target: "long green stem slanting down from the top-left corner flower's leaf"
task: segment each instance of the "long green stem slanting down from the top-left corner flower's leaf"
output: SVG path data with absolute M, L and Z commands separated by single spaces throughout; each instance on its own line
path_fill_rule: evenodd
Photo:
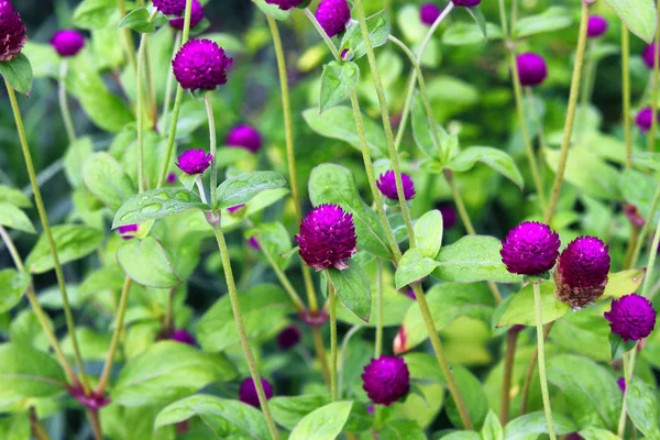
M 72 312 L 72 306 L 69 304 L 68 295 L 66 292 L 66 280 L 64 279 L 64 273 L 62 272 L 62 264 L 59 263 L 57 248 L 55 246 L 55 240 L 53 239 L 53 232 L 51 231 L 51 223 L 48 222 L 48 216 L 46 215 L 46 208 L 42 199 L 41 189 L 38 187 L 38 183 L 36 182 L 36 174 L 34 173 L 32 154 L 30 153 L 30 146 L 28 146 L 25 128 L 23 127 L 23 119 L 21 118 L 21 109 L 19 108 L 19 102 L 16 101 L 16 94 L 14 92 L 13 87 L 11 87 L 7 79 L 4 80 L 4 84 L 7 86 L 7 94 L 9 95 L 9 101 L 11 103 L 11 109 L 13 111 L 14 120 L 16 123 L 19 140 L 21 141 L 21 150 L 23 151 L 23 157 L 25 158 L 25 167 L 28 168 L 28 176 L 30 177 L 30 184 L 32 185 L 32 193 L 34 194 L 34 204 L 36 205 L 36 210 L 38 212 L 38 217 L 44 228 L 44 234 L 46 235 L 46 241 L 48 242 L 51 256 L 53 257 L 53 264 L 55 266 L 55 276 L 57 278 L 57 284 L 59 285 L 59 292 L 62 292 L 64 316 L 66 319 L 66 326 L 69 336 L 72 338 L 74 358 L 76 360 L 76 365 L 78 366 L 78 371 L 80 373 L 82 387 L 87 393 L 87 391 L 89 389 L 89 383 L 87 381 L 87 374 L 85 374 L 82 356 L 80 355 L 80 348 L 78 345 L 78 337 L 76 336 L 76 324 L 74 322 L 74 315 Z

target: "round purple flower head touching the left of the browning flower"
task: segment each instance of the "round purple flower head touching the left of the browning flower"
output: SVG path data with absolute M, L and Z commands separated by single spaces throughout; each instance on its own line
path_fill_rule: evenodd
M 539 275 L 554 266 L 559 256 L 559 235 L 549 226 L 524 221 L 502 242 L 502 262 L 512 274 Z

